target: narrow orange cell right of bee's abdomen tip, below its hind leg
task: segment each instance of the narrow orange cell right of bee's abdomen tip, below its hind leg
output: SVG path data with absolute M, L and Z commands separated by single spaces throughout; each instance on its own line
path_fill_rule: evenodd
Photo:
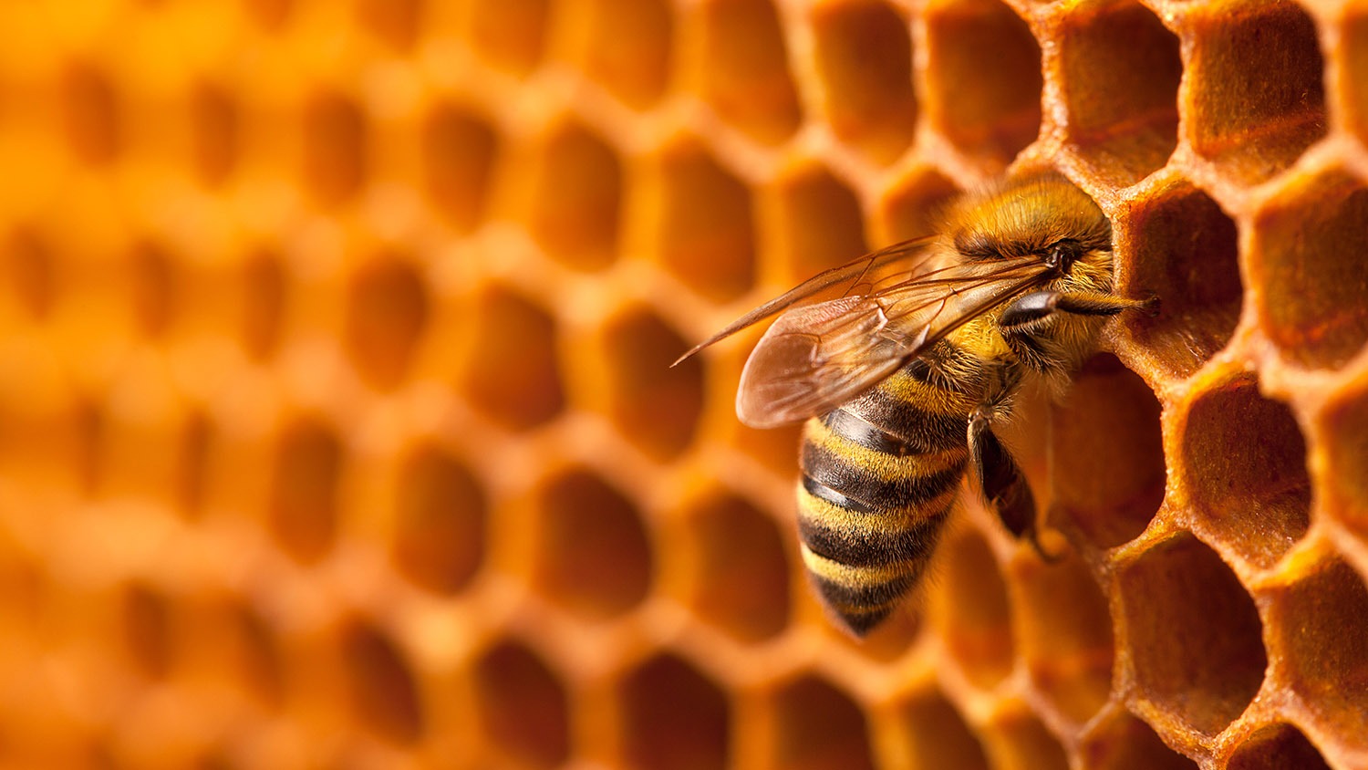
M 973 529 L 937 548 L 936 615 L 945 650 L 974 685 L 989 689 L 1012 670 L 1011 605 L 997 559 Z

